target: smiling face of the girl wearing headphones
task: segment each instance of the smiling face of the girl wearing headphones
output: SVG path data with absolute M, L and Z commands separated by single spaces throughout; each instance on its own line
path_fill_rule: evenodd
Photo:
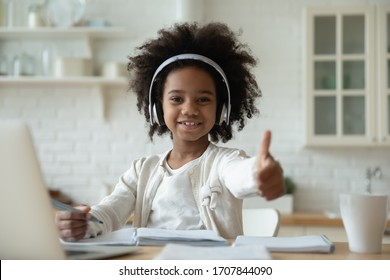
M 216 121 L 217 93 L 213 78 L 189 66 L 168 74 L 163 92 L 164 121 L 177 141 L 208 142 Z

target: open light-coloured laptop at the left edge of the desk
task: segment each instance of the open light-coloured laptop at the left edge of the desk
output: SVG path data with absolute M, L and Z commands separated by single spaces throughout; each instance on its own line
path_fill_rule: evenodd
M 107 259 L 138 250 L 61 243 L 29 127 L 20 121 L 0 121 L 0 224 L 2 260 Z

